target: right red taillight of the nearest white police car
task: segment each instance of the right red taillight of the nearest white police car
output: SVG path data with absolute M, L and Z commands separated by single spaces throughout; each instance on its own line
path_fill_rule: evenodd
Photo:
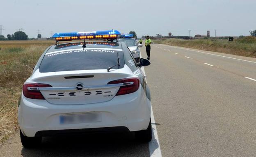
M 139 79 L 138 78 L 127 78 L 127 79 L 120 79 L 108 82 L 107 84 L 120 84 L 122 86 L 119 88 L 119 91 L 116 95 L 124 95 L 136 92 L 139 89 Z

